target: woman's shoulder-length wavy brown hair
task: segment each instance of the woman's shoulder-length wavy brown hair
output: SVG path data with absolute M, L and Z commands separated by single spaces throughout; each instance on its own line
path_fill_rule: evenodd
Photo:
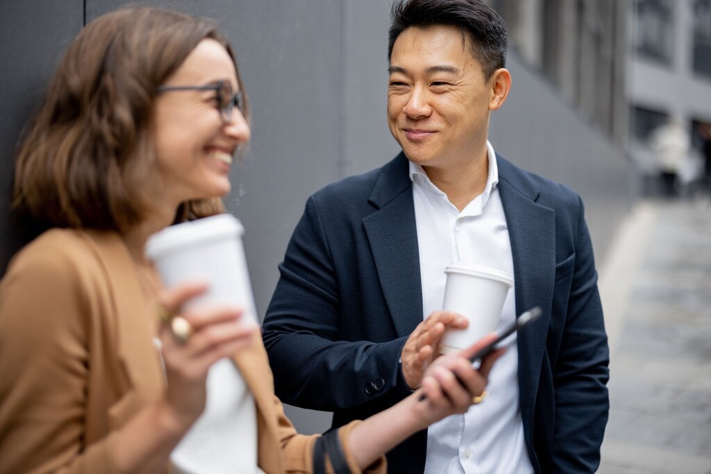
M 212 38 L 215 24 L 146 7 L 96 18 L 79 33 L 18 151 L 14 208 L 36 222 L 125 232 L 151 209 L 149 133 L 158 87 Z M 242 80 L 237 71 L 240 89 Z M 220 198 L 183 203 L 176 222 L 224 211 Z

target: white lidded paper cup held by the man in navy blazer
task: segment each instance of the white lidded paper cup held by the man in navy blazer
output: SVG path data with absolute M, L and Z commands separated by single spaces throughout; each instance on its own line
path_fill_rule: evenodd
M 448 329 L 439 344 L 439 352 L 468 348 L 496 330 L 506 293 L 513 280 L 503 271 L 478 264 L 456 263 L 447 266 L 444 311 L 453 311 L 469 319 L 466 329 Z

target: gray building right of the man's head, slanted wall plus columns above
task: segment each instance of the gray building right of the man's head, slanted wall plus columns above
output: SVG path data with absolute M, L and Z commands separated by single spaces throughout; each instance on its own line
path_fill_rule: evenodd
M 488 0 L 509 31 L 513 85 L 496 150 L 579 193 L 598 257 L 639 195 L 627 151 L 629 16 L 621 0 Z M 602 262 L 601 259 L 601 262 Z

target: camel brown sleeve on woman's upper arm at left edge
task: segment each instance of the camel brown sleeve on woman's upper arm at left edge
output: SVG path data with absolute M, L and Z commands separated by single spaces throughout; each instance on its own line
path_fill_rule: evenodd
M 118 473 L 114 433 L 84 442 L 92 306 L 82 263 L 42 239 L 0 282 L 1 474 Z

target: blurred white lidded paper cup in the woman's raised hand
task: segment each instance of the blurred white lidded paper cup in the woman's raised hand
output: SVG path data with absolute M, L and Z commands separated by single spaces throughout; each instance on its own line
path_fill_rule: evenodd
M 166 286 L 206 281 L 208 290 L 186 303 L 242 308 L 242 321 L 257 323 L 255 299 L 247 271 L 242 234 L 237 218 L 219 214 L 171 225 L 146 242 L 146 255 Z

